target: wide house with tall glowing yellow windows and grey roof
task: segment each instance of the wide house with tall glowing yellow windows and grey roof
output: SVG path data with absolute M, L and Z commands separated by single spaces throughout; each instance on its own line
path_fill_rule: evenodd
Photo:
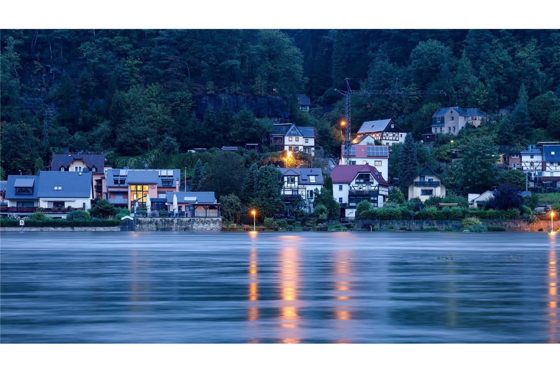
M 164 202 L 167 192 L 178 192 L 181 173 L 178 169 L 111 168 L 103 180 L 104 199 L 110 204 L 130 208 L 146 205 L 150 195 L 152 204 Z M 157 207 L 157 208 L 155 208 Z M 160 210 L 161 206 L 152 206 Z

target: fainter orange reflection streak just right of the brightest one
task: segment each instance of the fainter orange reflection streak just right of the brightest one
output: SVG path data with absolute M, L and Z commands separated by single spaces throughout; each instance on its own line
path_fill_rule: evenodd
M 334 290 L 336 300 L 334 306 L 334 315 L 337 321 L 336 328 L 344 330 L 344 335 L 348 334 L 348 320 L 352 318 L 349 306 L 350 300 L 350 253 L 348 251 L 337 251 L 335 254 L 335 270 L 334 270 Z M 350 343 L 348 338 L 342 338 L 335 341 L 337 343 Z

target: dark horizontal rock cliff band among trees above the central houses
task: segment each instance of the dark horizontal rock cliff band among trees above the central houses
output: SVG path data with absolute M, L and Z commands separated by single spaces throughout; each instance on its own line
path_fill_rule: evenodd
M 209 105 L 219 110 L 223 105 L 229 105 L 231 110 L 239 112 L 243 107 L 252 111 L 256 117 L 268 117 L 272 120 L 282 121 L 290 117 L 288 104 L 279 96 L 231 96 L 231 95 L 204 95 L 194 97 L 197 116 L 202 117 Z

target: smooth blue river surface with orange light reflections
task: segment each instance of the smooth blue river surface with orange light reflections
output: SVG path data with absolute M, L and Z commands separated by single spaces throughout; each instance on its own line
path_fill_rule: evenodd
M 1 342 L 557 343 L 559 239 L 4 232 Z

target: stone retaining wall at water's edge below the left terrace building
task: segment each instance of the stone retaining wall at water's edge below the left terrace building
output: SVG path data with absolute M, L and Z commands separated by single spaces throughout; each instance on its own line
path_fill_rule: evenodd
M 218 232 L 222 218 L 134 218 L 134 230 Z

